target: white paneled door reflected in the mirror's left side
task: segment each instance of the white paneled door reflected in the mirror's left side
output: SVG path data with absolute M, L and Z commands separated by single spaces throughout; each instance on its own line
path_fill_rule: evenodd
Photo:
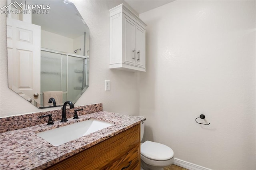
M 40 26 L 7 18 L 9 87 L 37 103 L 40 103 L 40 29 Z

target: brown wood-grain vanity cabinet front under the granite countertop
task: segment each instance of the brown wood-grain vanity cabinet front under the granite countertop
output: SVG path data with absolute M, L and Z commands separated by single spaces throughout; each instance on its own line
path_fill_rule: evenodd
M 121 170 L 122 168 L 125 168 L 124 170 L 140 170 L 140 124 L 47 169 Z

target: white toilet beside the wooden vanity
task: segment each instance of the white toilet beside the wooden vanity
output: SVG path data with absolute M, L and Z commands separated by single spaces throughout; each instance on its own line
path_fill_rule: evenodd
M 140 142 L 144 135 L 145 121 L 140 123 Z M 140 144 L 141 169 L 163 170 L 170 166 L 174 160 L 171 148 L 157 142 L 146 141 Z

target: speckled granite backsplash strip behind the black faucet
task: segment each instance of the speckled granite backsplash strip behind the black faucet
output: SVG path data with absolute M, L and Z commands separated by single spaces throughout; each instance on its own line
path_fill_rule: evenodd
M 78 106 L 78 107 L 75 107 L 75 109 L 83 109 L 82 111 L 77 112 L 78 116 L 86 115 L 89 113 L 102 111 L 102 103 Z M 52 114 L 53 121 L 61 120 L 62 109 L 0 118 L 0 133 L 7 132 L 9 130 L 16 130 L 20 128 L 40 125 L 42 123 L 47 123 L 48 117 L 39 119 L 38 116 L 49 115 L 49 114 Z M 74 109 L 66 109 L 66 116 L 67 118 L 73 117 Z

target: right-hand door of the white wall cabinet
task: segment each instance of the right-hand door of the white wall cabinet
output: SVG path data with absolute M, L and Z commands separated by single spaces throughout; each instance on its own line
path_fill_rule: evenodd
M 135 65 L 145 67 L 145 32 L 136 26 L 135 32 L 136 57 Z

